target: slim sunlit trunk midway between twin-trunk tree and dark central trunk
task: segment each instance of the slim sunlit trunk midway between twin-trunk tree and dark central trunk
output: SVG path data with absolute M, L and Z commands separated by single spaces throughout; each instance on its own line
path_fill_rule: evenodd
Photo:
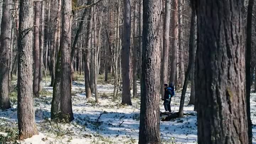
M 94 3 L 96 0 L 94 0 Z M 98 100 L 98 90 L 97 90 L 97 21 L 96 21 L 96 6 L 94 6 L 94 91 L 95 91 L 95 101 L 96 103 L 99 102 Z M 99 36 L 98 36 L 99 37 Z

